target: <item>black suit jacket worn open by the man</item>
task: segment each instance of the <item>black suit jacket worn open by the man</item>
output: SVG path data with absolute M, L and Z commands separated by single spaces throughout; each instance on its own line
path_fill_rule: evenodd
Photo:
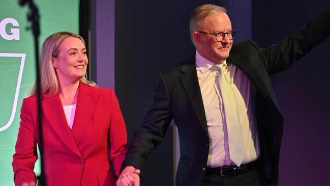
M 330 12 L 301 31 L 267 48 L 253 41 L 235 44 L 227 59 L 241 69 L 257 88 L 260 139 L 258 165 L 263 184 L 277 182 L 283 116 L 269 75 L 287 69 L 330 35 Z M 178 128 L 180 152 L 176 185 L 201 185 L 207 163 L 209 138 L 198 84 L 195 56 L 159 73 L 153 104 L 135 131 L 122 168 L 143 168 L 147 156 L 163 140 L 171 122 Z

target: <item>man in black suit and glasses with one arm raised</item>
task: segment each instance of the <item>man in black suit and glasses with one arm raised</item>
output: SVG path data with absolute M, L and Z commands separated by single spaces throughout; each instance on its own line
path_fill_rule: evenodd
M 330 11 L 277 45 L 233 45 L 226 10 L 197 7 L 196 54 L 159 73 L 151 108 L 136 130 L 118 185 L 130 185 L 174 119 L 181 157 L 176 185 L 276 185 L 283 116 L 269 75 L 330 36 Z

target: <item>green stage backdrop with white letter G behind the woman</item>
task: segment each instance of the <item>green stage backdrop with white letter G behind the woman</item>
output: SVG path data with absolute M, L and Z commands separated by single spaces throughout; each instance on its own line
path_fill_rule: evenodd
M 78 33 L 79 0 L 37 0 L 42 42 L 52 33 Z M 28 7 L 18 1 L 0 3 L 0 180 L 1 185 L 14 185 L 12 155 L 19 127 L 23 98 L 35 82 L 34 38 L 26 19 Z M 39 165 L 39 164 L 38 164 Z M 40 167 L 36 166 L 37 175 Z

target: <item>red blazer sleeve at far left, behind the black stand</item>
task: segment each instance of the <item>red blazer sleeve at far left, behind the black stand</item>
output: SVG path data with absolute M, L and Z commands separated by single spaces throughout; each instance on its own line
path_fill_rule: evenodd
M 34 128 L 35 121 L 26 98 L 23 100 L 20 118 L 21 122 L 12 163 L 14 182 L 15 185 L 19 186 L 26 181 L 37 183 L 36 174 L 33 171 L 38 159 L 37 136 Z

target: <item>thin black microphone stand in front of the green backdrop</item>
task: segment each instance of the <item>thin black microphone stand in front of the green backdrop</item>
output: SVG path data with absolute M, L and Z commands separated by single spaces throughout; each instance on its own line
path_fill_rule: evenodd
M 37 99 L 38 99 L 38 118 L 37 124 L 39 126 L 39 151 L 40 151 L 40 162 L 41 162 L 41 173 L 39 178 L 39 184 L 46 185 L 46 176 L 44 173 L 44 148 L 43 148 L 43 135 L 42 135 L 42 106 L 41 106 L 41 78 L 39 68 L 39 35 L 40 35 L 40 24 L 39 24 L 39 11 L 38 7 L 33 3 L 32 0 L 20 0 L 19 4 L 24 6 L 28 4 L 30 12 L 27 14 L 27 20 L 32 23 L 32 32 L 35 40 L 35 57 L 36 57 L 36 88 L 37 88 Z

